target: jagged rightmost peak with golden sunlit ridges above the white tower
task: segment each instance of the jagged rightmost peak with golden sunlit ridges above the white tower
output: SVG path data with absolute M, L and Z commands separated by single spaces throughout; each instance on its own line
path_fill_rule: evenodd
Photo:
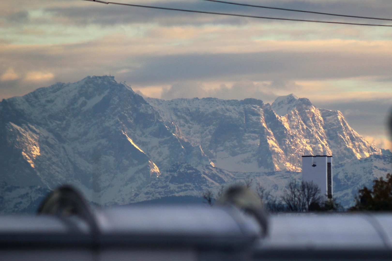
M 271 107 L 274 111 L 287 112 L 281 115 L 281 120 L 287 122 L 291 134 L 285 147 L 288 155 L 332 155 L 335 164 L 381 155 L 380 149 L 348 126 L 339 111 L 316 108 L 309 99 L 297 99 L 293 94 L 278 97 Z M 292 144 L 301 146 L 293 150 Z

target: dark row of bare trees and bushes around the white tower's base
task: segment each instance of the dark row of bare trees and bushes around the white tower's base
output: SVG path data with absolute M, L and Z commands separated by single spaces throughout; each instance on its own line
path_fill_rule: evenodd
M 328 199 L 321 195 L 320 188 L 313 182 L 298 182 L 291 180 L 286 185 L 283 194 L 276 196 L 267 191 L 260 184 L 254 186 L 253 180 L 245 180 L 247 188 L 253 187 L 264 203 L 265 209 L 270 212 L 308 212 L 308 211 L 343 211 L 343 207 L 335 200 Z M 225 191 L 225 186 L 221 185 L 218 193 L 211 190 L 205 191 L 202 196 L 206 203 L 213 205 Z M 355 198 L 355 205 L 348 211 L 392 211 L 392 175 L 387 174 L 373 180 L 372 189 L 366 186 L 359 189 Z

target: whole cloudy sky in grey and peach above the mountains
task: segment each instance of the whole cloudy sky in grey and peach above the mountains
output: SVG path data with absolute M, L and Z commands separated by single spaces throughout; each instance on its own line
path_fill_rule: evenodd
M 233 0 L 234 1 L 234 0 Z M 119 0 L 212 12 L 384 23 L 203 0 Z M 390 0 L 236 0 L 327 13 L 392 18 Z M 392 24 L 392 21 L 389 22 Z M 113 75 L 149 97 L 307 97 L 341 110 L 390 148 L 392 28 L 288 22 L 105 5 L 81 0 L 3 0 L 0 99 L 58 81 Z

